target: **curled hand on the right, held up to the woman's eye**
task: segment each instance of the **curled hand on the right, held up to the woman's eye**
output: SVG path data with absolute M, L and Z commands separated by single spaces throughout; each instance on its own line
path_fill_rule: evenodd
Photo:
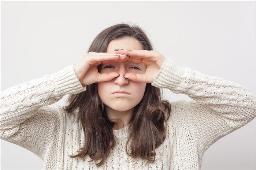
M 142 63 L 146 65 L 146 72 L 144 74 L 126 73 L 125 78 L 134 82 L 153 83 L 159 69 L 163 65 L 166 57 L 156 50 L 122 50 L 115 51 L 116 54 L 127 54 L 130 56 L 129 61 L 134 63 Z

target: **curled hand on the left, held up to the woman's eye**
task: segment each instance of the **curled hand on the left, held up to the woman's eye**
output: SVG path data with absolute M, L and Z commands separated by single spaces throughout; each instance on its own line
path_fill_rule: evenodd
M 126 54 L 89 52 L 74 65 L 74 70 L 82 86 L 87 86 L 92 83 L 110 81 L 119 76 L 117 72 L 99 73 L 97 66 L 101 63 L 123 62 L 128 59 Z

